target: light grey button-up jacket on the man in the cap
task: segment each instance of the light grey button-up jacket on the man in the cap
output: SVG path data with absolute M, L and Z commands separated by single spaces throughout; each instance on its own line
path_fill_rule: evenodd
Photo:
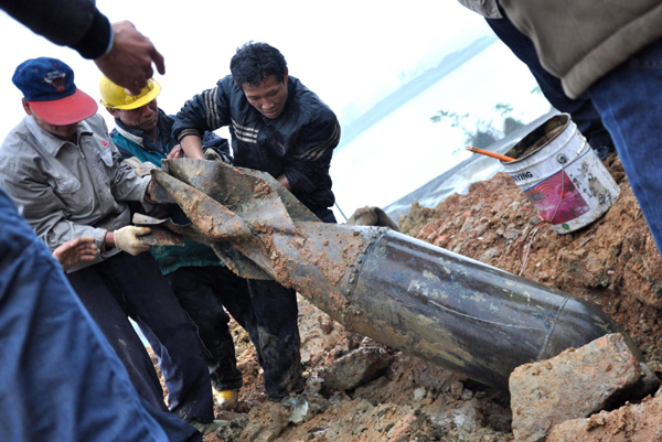
M 145 202 L 149 176 L 120 163 L 99 115 L 78 123 L 77 139 L 63 141 L 26 116 L 0 147 L 0 186 L 51 250 L 81 236 L 93 237 L 100 250 L 107 230 L 130 223 L 125 202 Z

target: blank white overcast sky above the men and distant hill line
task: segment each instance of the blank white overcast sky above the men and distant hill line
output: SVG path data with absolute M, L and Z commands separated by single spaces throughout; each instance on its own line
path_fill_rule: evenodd
M 479 15 L 455 0 L 98 0 L 97 7 L 110 21 L 134 22 L 164 55 L 166 76 L 156 78 L 163 86 L 159 105 L 169 114 L 227 75 L 236 47 L 250 40 L 278 47 L 290 74 L 341 115 L 350 104 L 366 110 L 402 85 L 403 75 L 436 65 L 447 53 L 490 32 Z M 100 74 L 93 63 L 7 17 L 0 29 L 2 136 L 23 114 L 11 76 L 24 60 L 61 58 L 74 68 L 77 86 L 99 98 Z

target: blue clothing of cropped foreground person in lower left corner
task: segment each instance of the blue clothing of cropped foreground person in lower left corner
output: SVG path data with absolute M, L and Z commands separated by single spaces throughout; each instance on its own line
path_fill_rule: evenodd
M 134 389 L 60 265 L 0 190 L 0 439 L 200 441 Z

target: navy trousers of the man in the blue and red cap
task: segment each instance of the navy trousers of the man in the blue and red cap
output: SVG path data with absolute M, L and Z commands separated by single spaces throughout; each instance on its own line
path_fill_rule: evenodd
M 154 406 L 163 402 L 153 365 L 127 316 L 159 357 L 171 411 L 186 421 L 213 420 L 210 375 L 195 330 L 149 254 L 121 252 L 67 277 L 142 397 Z

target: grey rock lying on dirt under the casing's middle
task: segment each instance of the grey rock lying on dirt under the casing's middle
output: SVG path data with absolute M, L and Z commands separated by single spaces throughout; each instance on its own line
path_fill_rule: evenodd
M 388 368 L 389 358 L 380 347 L 361 347 L 323 367 L 318 376 L 324 380 L 323 391 L 351 390 L 380 377 Z

